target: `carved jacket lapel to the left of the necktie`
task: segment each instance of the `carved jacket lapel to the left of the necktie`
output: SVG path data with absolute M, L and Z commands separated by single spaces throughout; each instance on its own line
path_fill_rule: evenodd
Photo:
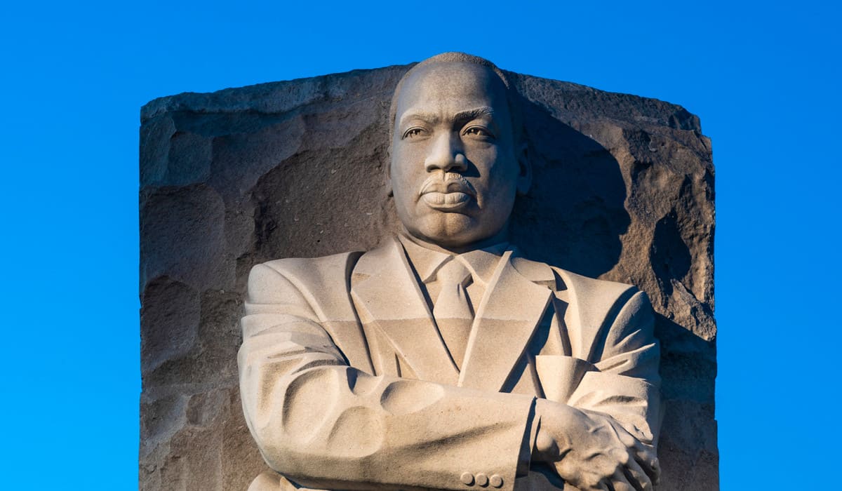
M 360 258 L 351 295 L 421 380 L 455 384 L 459 373 L 397 239 Z

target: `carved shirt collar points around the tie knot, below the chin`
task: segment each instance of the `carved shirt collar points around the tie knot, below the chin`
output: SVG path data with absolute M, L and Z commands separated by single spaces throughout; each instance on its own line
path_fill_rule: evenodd
M 412 237 L 404 234 L 398 234 L 397 238 L 403 244 L 403 249 L 407 252 L 409 261 L 424 283 L 434 281 L 436 272 L 451 259 L 456 259 L 471 271 L 474 281 L 478 280 L 488 284 L 488 280 L 491 280 L 491 276 L 497 268 L 500 256 L 509 248 L 509 243 L 504 242 L 462 254 L 448 254 L 426 248 L 413 240 Z

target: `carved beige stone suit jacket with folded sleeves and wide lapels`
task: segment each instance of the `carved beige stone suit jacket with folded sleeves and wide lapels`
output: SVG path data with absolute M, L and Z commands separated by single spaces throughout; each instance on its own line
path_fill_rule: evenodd
M 525 472 L 535 398 L 609 415 L 647 444 L 657 437 L 658 344 L 633 286 L 507 251 L 461 371 L 397 240 L 258 264 L 245 311 L 242 406 L 280 473 L 253 490 L 562 487 Z

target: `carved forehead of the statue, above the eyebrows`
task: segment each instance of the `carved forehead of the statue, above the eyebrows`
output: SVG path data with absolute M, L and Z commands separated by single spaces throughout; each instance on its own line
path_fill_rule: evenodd
M 452 114 L 491 107 L 504 119 L 506 88 L 491 68 L 473 63 L 434 63 L 411 73 L 397 99 L 396 122 L 408 110 Z

